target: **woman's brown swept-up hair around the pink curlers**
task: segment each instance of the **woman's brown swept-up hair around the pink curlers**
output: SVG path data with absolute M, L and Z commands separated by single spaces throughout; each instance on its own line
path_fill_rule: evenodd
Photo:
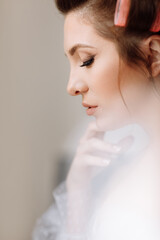
M 55 0 L 64 15 L 81 11 L 100 36 L 116 43 L 120 56 L 127 64 L 143 64 L 149 70 L 150 62 L 140 44 L 141 40 L 151 35 L 160 35 L 160 32 L 150 31 L 160 9 L 159 0 L 130 1 L 126 27 L 117 27 L 114 25 L 117 0 Z

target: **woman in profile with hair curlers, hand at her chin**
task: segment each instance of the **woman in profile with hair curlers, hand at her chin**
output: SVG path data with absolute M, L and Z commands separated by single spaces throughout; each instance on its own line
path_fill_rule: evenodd
M 158 240 L 159 1 L 56 4 L 65 15 L 64 50 L 71 66 L 67 90 L 82 96 L 95 122 L 33 239 Z M 112 143 L 105 141 L 110 130 Z

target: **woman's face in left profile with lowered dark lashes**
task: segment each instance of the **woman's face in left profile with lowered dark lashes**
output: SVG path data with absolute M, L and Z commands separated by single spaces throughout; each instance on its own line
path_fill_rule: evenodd
M 82 95 L 87 114 L 96 118 L 101 130 L 116 129 L 136 119 L 137 104 L 139 108 L 148 91 L 146 78 L 124 64 L 115 43 L 99 36 L 91 24 L 72 12 L 65 18 L 64 50 L 71 67 L 67 91 Z

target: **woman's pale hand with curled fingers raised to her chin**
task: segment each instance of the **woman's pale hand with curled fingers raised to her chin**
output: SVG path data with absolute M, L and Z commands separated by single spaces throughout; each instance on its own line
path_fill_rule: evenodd
M 86 133 L 80 140 L 73 159 L 68 177 L 67 187 L 72 190 L 85 189 L 104 167 L 119 154 L 126 151 L 133 143 L 133 137 L 128 136 L 118 144 L 104 141 L 105 132 L 99 131 L 96 123 L 91 122 Z

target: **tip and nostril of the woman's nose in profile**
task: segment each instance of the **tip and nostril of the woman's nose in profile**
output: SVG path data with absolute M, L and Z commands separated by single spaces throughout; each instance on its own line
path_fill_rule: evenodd
M 80 78 L 77 79 L 77 77 L 70 76 L 68 85 L 67 85 L 67 92 L 71 96 L 84 94 L 87 91 L 88 91 L 88 85 L 85 80 L 82 80 Z

